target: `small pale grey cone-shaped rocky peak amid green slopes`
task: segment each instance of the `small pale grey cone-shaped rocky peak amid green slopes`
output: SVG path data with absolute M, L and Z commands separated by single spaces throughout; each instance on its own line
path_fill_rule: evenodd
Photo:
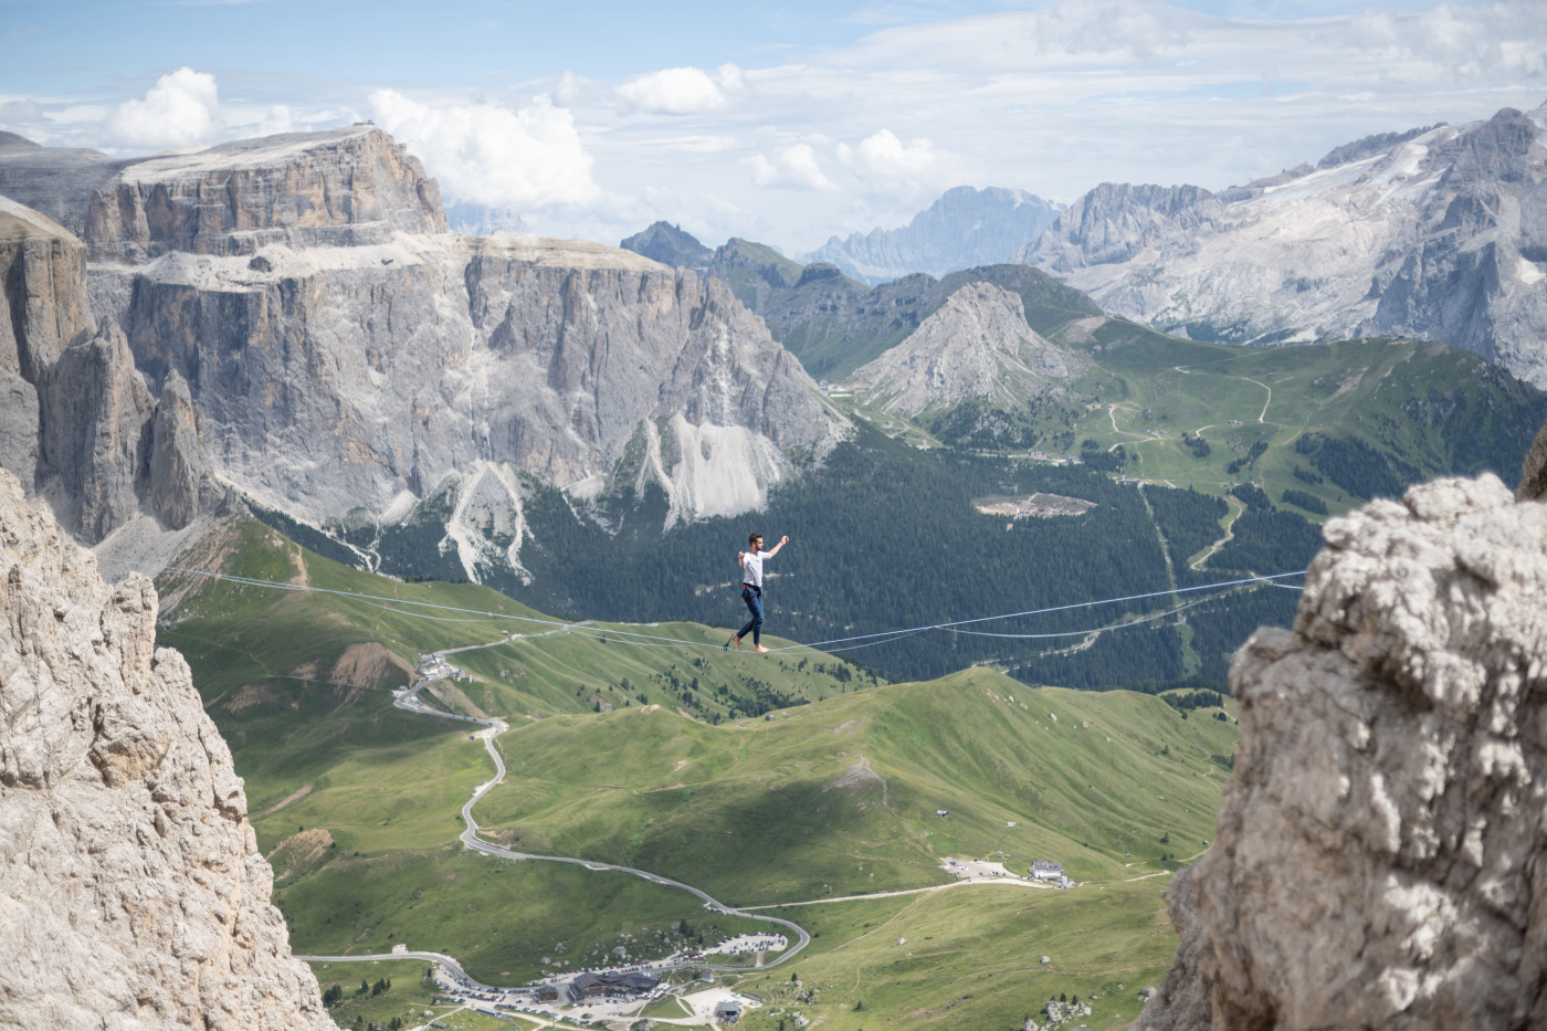
M 953 293 L 907 341 L 849 376 L 855 396 L 913 418 L 965 401 L 1023 407 L 1089 367 L 1026 324 L 1021 299 L 992 283 Z

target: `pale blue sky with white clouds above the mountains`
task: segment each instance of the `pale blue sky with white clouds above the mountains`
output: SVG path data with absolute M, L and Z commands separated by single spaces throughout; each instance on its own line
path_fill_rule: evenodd
M 1547 102 L 1547 0 L 0 0 L 0 130 L 116 156 L 373 121 L 447 201 L 786 254 L 953 186 L 1224 189 Z

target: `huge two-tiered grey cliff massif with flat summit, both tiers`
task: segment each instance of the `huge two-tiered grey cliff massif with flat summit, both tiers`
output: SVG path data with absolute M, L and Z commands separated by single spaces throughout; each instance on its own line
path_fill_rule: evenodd
M 439 520 L 484 579 L 520 571 L 528 480 L 582 503 L 653 485 L 671 525 L 760 506 L 843 432 L 718 282 L 446 232 L 435 181 L 374 127 L 102 161 L 11 141 L 0 192 L 79 226 L 91 313 L 153 392 L 181 384 L 162 404 L 196 433 L 150 443 L 200 440 L 213 478 L 292 517 Z

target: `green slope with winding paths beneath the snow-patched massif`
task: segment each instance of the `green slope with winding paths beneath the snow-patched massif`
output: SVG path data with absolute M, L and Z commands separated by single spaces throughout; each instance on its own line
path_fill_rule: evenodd
M 1363 503 L 1330 478 L 1312 485 L 1295 477 L 1296 466 L 1313 472 L 1312 458 L 1295 450 L 1306 433 L 1358 438 L 1392 460 L 1398 475 L 1403 464 L 1420 478 L 1491 469 L 1513 481 L 1547 415 L 1547 395 L 1443 344 L 1236 347 L 1074 310 L 1029 310 L 1029 319 L 1094 362 L 1074 385 L 1092 398 L 1078 418 L 1069 423 L 1058 410 L 1032 416 L 1043 450 L 1078 454 L 1084 440 L 1103 450 L 1122 444 L 1128 475 L 1210 494 L 1259 483 L 1276 505 L 1286 489 L 1320 497 L 1332 514 Z M 916 430 L 900 420 L 888 429 L 903 432 Z M 1183 432 L 1204 437 L 1211 454 L 1194 457 Z M 1230 471 L 1256 443 L 1267 452 Z

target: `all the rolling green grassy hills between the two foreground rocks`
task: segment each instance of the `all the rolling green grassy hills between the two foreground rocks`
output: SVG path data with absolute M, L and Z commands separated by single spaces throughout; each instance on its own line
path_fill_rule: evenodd
M 187 563 L 531 615 L 472 585 L 396 584 L 347 570 L 257 523 L 232 526 L 215 551 Z M 401 670 L 385 666 L 368 675 L 347 669 L 340 656 L 350 646 L 376 644 L 412 661 L 419 650 L 497 641 L 509 624 L 430 622 L 374 601 L 176 574 L 161 588 L 169 596 L 186 591 L 164 619 L 172 625 L 164 625 L 162 642 L 186 650 L 232 743 L 297 949 L 371 952 L 407 941 L 458 955 L 475 975 L 520 981 L 552 969 L 545 958 L 596 961 L 616 946 L 633 955 L 667 952 L 682 944 L 671 932 L 682 920 L 710 937 L 746 929 L 732 918 L 705 924 L 695 899 L 634 878 L 503 862 L 452 844 L 461 831 L 456 808 L 489 776 L 487 757 L 466 728 L 391 709 L 388 689 L 405 680 Z M 705 639 L 716 633 L 631 630 Z M 693 664 L 704 656 L 702 666 Z M 1208 712 L 1182 720 L 1156 698 L 1027 689 L 990 670 L 857 690 L 862 676 L 828 656 L 704 656 L 574 633 L 453 656 L 475 673 L 459 686 L 467 704 L 509 717 L 514 726 L 500 742 L 511 780 L 483 803 L 480 820 L 534 850 L 627 859 L 738 904 L 941 884 L 947 878 L 937 862 L 947 855 L 1006 853 L 1012 865 L 1049 856 L 1081 879 L 1122 879 L 1174 865 L 1162 862 L 1162 853 L 1185 859 L 1213 833 L 1225 774 L 1211 755 L 1233 751 L 1235 728 Z M 758 680 L 792 697 L 825 700 L 778 711 L 772 721 L 712 726 L 676 711 L 681 698 L 667 678 L 678 676 L 692 692 L 693 675 L 698 695 L 713 695 L 704 689 L 712 680 L 727 690 L 750 690 L 746 683 Z M 340 686 L 350 676 L 356 683 Z M 644 712 L 634 700 L 591 712 L 593 694 L 611 689 L 606 697 L 620 697 L 625 676 L 633 690 L 667 707 Z M 885 790 L 865 779 L 835 785 L 862 755 Z M 948 808 L 950 817 L 936 817 L 936 808 Z M 1018 827 L 1006 828 L 1007 820 Z M 1163 969 L 1174 941 L 1156 930 L 1163 882 L 1139 881 L 1142 889 L 1112 910 L 1118 916 L 1105 915 L 1105 899 L 1101 909 L 1074 906 L 1081 898 L 1095 903 L 1095 889 L 1023 898 L 1001 887 L 791 912 L 800 912 L 801 923 L 815 920 L 818 930 L 828 927 L 809 957 L 814 972 L 848 983 L 869 971 L 860 983 L 876 986 L 866 998 L 873 1009 L 885 1006 L 900 1023 L 920 1008 L 942 1009 L 948 1022 L 984 1026 L 979 1020 L 1026 1008 L 1026 978 L 1061 985 L 1047 980 L 1060 971 L 1038 964 L 1009 977 L 1012 968 L 1004 968 L 1002 991 L 979 989 L 978 1002 L 961 1000 L 941 977 L 920 980 L 913 964 L 880 963 L 873 954 L 877 940 L 854 915 L 896 906 L 893 912 L 908 913 L 899 926 L 917 923 L 910 940 L 917 933 L 954 941 L 931 963 L 944 964 L 942 972 L 961 964 L 967 977 L 985 955 L 968 943 L 989 943 L 987 955 L 1015 951 L 1030 933 L 1024 913 L 1072 906 L 1055 923 L 1067 941 L 1100 952 L 1067 971 L 1067 983 L 1088 994 L 1122 980 L 1134 957 L 1146 975 Z M 821 916 L 829 910 L 834 916 Z M 1024 957 L 1015 963 L 1019 969 Z M 357 985 L 350 971 L 337 975 Z M 818 1000 L 817 1009 L 848 1026 L 845 1005 Z

